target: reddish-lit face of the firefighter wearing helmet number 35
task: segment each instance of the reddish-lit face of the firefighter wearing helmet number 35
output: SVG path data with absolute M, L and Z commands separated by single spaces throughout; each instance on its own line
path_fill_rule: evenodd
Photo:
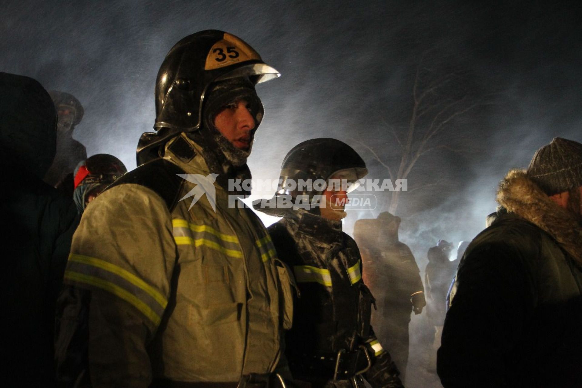
M 222 109 L 214 118 L 214 126 L 236 148 L 250 148 L 255 121 L 246 100 L 239 99 Z

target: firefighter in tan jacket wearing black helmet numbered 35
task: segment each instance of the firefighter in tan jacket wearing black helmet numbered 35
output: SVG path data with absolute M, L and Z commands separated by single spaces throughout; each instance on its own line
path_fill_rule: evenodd
M 278 76 L 223 31 L 189 35 L 166 55 L 157 132 L 142 135 L 140 166 L 91 202 L 73 239 L 59 299 L 64 385 L 281 379 L 289 275 L 260 220 L 229 207 L 227 191 L 229 179 L 249 176 L 263 114 L 255 84 Z

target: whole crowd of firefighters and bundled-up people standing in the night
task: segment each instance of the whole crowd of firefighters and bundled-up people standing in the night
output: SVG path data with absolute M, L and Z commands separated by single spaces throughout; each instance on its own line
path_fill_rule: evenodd
M 582 144 L 555 138 L 510 171 L 487 229 L 439 240 L 423 284 L 400 217 L 360 219 L 352 239 L 349 188 L 289 188 L 367 175 L 342 141 L 283 159 L 272 202 L 317 206 L 255 203 L 281 217 L 267 229 L 232 205 L 250 194 L 229 182 L 250 177 L 255 87 L 278 76 L 235 35 L 183 38 L 127 172 L 73 139 L 75 97 L 0 73 L 3 385 L 403 387 L 426 307 L 444 387 L 582 386 Z

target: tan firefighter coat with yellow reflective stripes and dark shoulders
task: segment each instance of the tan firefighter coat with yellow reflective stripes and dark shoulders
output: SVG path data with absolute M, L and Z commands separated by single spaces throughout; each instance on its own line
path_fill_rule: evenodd
M 194 148 L 189 162 L 174 152 L 184 147 Z M 215 211 L 206 189 L 191 205 L 195 185 L 184 174 L 210 170 L 183 134 L 164 159 L 127 173 L 87 206 L 59 300 L 61 380 L 88 373 L 94 387 L 232 383 L 278 365 L 292 298 L 267 230 L 250 209 L 229 207 L 217 183 Z M 87 316 L 88 329 L 71 328 L 70 316 Z M 88 336 L 88 349 L 75 332 L 81 346 Z M 70 375 L 69 362 L 82 358 L 88 372 L 77 366 Z

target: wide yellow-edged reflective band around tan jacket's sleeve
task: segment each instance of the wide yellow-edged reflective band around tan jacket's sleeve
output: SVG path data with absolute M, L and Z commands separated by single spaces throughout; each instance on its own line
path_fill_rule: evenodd
M 132 304 L 155 326 L 168 305 L 166 297 L 140 277 L 102 259 L 70 254 L 65 279 L 108 291 Z

